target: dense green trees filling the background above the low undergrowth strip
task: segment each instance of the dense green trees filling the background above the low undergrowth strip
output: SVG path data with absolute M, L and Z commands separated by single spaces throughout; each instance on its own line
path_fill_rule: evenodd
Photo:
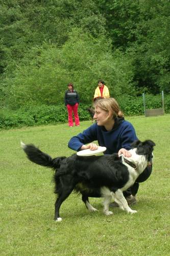
M 72 82 L 92 101 L 170 92 L 169 0 L 0 1 L 0 107 L 63 103 Z

